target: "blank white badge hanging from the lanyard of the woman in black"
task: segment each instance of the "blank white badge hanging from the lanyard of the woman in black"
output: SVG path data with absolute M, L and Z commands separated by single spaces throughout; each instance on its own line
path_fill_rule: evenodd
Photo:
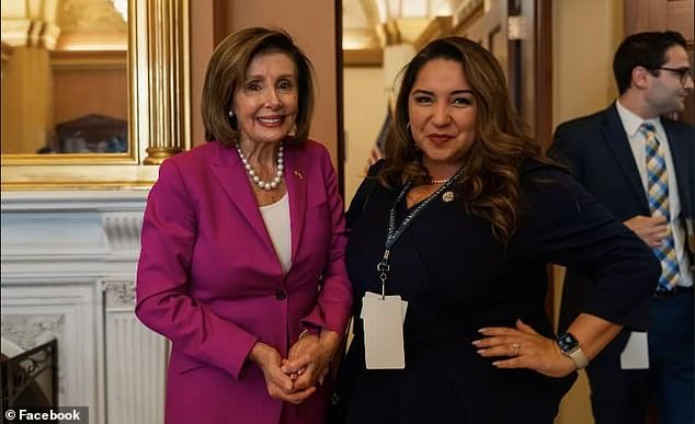
M 408 302 L 400 296 L 367 291 L 362 298 L 364 360 L 367 369 L 403 369 L 403 321 Z

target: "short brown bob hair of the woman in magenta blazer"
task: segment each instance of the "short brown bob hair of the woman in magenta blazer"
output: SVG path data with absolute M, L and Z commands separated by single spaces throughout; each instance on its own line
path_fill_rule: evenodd
M 239 140 L 237 118 L 229 116 L 235 92 L 242 87 L 249 64 L 267 51 L 286 54 L 295 64 L 298 89 L 296 129 L 288 142 L 300 145 L 309 137 L 314 113 L 314 67 L 286 32 L 250 27 L 227 36 L 213 53 L 203 87 L 205 139 L 235 145 Z

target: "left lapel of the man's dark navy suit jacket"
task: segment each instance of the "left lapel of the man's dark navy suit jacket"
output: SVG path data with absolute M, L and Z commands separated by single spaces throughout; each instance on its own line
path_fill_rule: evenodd
M 629 181 L 633 193 L 639 199 L 639 203 L 642 206 L 642 214 L 650 215 L 645 187 L 642 186 L 639 170 L 635 163 L 635 156 L 630 149 L 630 142 L 627 140 L 627 136 L 625 135 L 625 128 L 623 127 L 623 123 L 620 122 L 620 116 L 618 115 L 615 104 L 606 111 L 604 125 L 602 127 L 602 135 L 620 165 L 620 170 L 625 174 L 625 177 Z

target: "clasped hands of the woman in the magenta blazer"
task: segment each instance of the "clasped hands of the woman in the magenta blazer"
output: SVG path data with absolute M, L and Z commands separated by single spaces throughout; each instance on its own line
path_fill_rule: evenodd
M 286 358 L 261 342 L 253 346 L 249 357 L 263 371 L 271 398 L 298 404 L 322 382 L 339 341 L 337 333 L 323 330 L 321 337 L 308 334 L 298 340 Z

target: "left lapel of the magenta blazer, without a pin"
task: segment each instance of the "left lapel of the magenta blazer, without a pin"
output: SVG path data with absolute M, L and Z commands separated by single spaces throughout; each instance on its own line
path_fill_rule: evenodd
M 216 141 L 215 141 L 216 142 Z M 239 209 L 249 226 L 259 234 L 273 253 L 275 248 L 270 239 L 261 210 L 255 202 L 253 188 L 249 184 L 246 170 L 239 154 L 231 149 L 217 145 L 217 154 L 213 160 L 213 174 L 219 181 L 229 200 Z

